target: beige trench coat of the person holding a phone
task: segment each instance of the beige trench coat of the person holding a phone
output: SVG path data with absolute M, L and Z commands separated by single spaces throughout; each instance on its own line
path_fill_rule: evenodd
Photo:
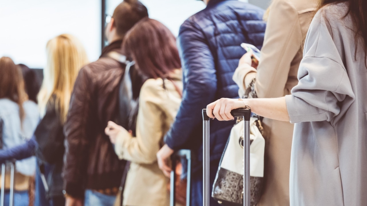
M 239 67 L 233 80 L 239 95 L 256 77 L 259 98 L 276 98 L 290 94 L 297 85 L 297 71 L 317 0 L 274 0 L 270 5 L 261 61 L 257 70 Z M 257 206 L 289 205 L 289 170 L 293 125 L 264 119 L 265 190 Z

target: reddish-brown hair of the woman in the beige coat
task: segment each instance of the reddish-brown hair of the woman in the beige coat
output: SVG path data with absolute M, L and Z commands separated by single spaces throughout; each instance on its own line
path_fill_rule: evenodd
M 123 53 L 131 57 L 140 73 L 148 78 L 170 78 L 174 69 L 181 68 L 176 38 L 157 20 L 145 18 L 126 34 Z

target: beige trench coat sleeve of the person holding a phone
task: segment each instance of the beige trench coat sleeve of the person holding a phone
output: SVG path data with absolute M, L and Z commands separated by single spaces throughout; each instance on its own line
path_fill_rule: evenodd
M 255 89 L 258 98 L 285 95 L 291 62 L 301 48 L 303 38 L 299 14 L 294 6 L 288 1 L 273 1 L 261 49 L 261 61 L 257 67 Z M 240 92 L 241 88 L 250 84 L 247 75 L 253 77 L 254 71 L 252 67 L 236 69 L 233 80 L 239 85 Z

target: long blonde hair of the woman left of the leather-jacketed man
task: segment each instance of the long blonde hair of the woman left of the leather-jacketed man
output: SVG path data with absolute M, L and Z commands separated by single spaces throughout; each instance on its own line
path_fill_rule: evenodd
M 64 124 L 74 82 L 80 68 L 88 63 L 87 54 L 80 41 L 70 34 L 61 34 L 48 41 L 46 53 L 47 66 L 37 97 L 40 113 L 44 115 L 48 101 L 55 95 L 55 110 Z

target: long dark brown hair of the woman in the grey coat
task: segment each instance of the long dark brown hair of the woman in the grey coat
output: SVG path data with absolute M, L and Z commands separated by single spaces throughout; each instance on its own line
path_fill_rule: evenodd
M 356 42 L 356 52 L 358 46 L 358 39 L 363 38 L 364 43 L 364 53 L 365 63 L 367 66 L 367 0 L 319 0 L 319 9 L 328 4 L 348 2 L 349 9 L 344 15 L 344 18 L 349 14 L 352 16 L 354 28 L 355 28 L 355 42 Z M 356 58 L 356 56 L 355 56 Z

